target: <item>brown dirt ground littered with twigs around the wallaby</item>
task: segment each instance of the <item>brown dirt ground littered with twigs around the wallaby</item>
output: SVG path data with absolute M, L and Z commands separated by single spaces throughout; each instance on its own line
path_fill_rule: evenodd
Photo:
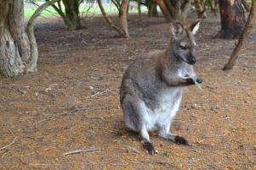
M 214 35 L 219 18 L 202 21 L 196 72 L 202 90 L 185 90 L 171 130 L 191 146 L 151 141 L 148 155 L 124 126 L 122 74 L 134 58 L 167 47 L 162 18 L 129 21 L 130 39 L 117 38 L 101 18 L 67 31 L 60 19 L 39 19 L 38 71 L 0 78 L 0 169 L 256 169 L 256 30 L 230 72 L 222 67 L 234 40 Z M 96 149 L 64 156 L 65 152 Z

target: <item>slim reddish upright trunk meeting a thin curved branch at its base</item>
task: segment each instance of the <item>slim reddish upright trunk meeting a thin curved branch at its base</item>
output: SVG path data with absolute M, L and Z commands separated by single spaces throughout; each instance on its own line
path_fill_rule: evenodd
M 119 23 L 122 27 L 122 30 L 124 30 L 125 36 L 129 37 L 128 33 L 128 4 L 129 0 L 122 0 L 120 9 L 119 9 Z

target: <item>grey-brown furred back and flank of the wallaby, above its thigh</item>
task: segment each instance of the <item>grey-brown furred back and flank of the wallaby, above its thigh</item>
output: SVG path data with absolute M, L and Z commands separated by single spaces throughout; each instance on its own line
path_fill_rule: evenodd
M 161 81 L 161 60 L 165 50 L 156 50 L 139 56 L 123 74 L 120 101 L 127 94 L 153 98 Z M 138 74 L 139 73 L 139 74 Z

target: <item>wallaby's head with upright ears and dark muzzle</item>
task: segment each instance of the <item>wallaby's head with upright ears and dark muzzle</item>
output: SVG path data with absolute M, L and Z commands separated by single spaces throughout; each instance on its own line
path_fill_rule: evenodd
M 200 21 L 184 26 L 179 22 L 171 24 L 171 48 L 174 57 L 185 63 L 196 63 L 195 34 L 199 29 Z

